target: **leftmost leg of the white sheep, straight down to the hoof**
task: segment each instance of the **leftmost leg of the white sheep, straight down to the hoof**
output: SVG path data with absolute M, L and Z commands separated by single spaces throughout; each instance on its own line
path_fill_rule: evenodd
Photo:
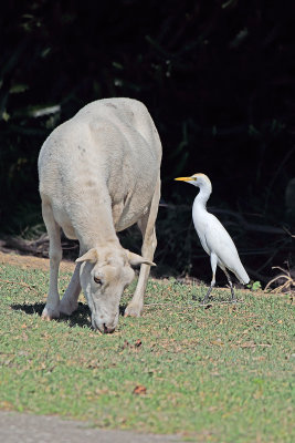
M 42 215 L 50 239 L 50 287 L 42 318 L 52 320 L 60 317 L 59 268 L 62 259 L 61 228 L 54 219 L 50 204 L 42 203 Z

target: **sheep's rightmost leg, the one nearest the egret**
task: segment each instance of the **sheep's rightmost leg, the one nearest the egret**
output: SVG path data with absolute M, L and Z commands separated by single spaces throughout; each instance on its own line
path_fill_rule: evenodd
M 144 240 L 141 255 L 149 261 L 152 261 L 155 249 L 157 247 L 155 223 L 158 214 L 159 199 L 160 199 L 160 179 L 157 183 L 149 212 L 138 222 L 138 226 L 141 230 Z M 150 271 L 149 265 L 140 266 L 140 272 L 136 290 L 131 301 L 129 302 L 129 305 L 125 310 L 125 317 L 140 317 L 140 313 L 143 312 L 144 309 L 144 295 L 147 287 L 149 271 Z

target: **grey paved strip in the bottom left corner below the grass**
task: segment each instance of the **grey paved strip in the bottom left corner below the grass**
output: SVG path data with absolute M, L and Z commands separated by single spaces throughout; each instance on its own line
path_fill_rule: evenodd
M 176 435 L 136 434 L 87 427 L 56 416 L 0 411 L 0 440 L 6 443 L 180 443 Z

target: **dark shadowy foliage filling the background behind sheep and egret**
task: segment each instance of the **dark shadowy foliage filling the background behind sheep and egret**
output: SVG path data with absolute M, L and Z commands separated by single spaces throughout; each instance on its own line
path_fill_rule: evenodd
M 254 278 L 292 265 L 278 228 L 294 224 L 295 3 L 7 0 L 1 10 L 2 233 L 40 222 L 36 158 L 50 132 L 87 102 L 130 96 L 164 145 L 159 272 L 210 276 L 191 226 L 196 189 L 172 182 L 196 172 L 210 176 L 210 206 Z

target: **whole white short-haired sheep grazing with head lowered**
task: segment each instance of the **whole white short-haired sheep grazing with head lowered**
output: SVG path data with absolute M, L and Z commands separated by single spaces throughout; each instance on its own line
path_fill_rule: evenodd
M 56 127 L 39 155 L 42 215 L 50 238 L 50 288 L 43 318 L 71 315 L 81 287 L 92 324 L 113 332 L 119 300 L 133 280 L 130 265 L 141 265 L 126 316 L 144 307 L 154 253 L 160 198 L 161 143 L 145 107 L 136 100 L 105 99 L 89 103 Z M 138 224 L 143 257 L 124 249 L 116 231 Z M 60 301 L 57 276 L 61 233 L 78 239 L 80 258 Z

